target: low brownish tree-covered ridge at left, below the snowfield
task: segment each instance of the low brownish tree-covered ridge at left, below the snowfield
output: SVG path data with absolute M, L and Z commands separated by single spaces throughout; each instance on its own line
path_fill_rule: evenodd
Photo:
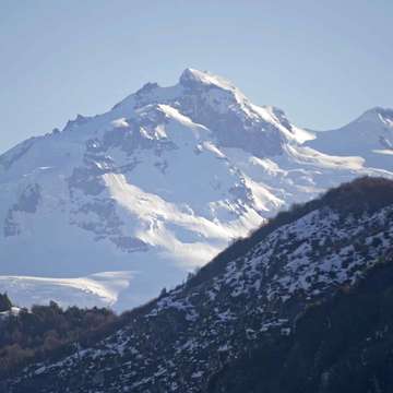
M 0 378 L 28 364 L 56 359 L 87 346 L 118 327 L 120 318 L 108 309 L 63 310 L 56 302 L 11 311 L 7 294 L 0 295 Z

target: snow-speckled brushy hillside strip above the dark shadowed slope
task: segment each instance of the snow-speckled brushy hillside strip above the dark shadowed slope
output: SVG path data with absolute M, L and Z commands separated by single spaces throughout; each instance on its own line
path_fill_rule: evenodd
M 200 392 L 315 302 L 392 258 L 393 182 L 360 179 L 279 214 L 93 347 L 9 380 L 23 392 Z M 296 330 L 295 330 L 296 331 Z

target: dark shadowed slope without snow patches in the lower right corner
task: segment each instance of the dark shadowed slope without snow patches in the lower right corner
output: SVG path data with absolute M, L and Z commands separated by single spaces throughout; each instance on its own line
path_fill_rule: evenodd
M 260 342 L 215 374 L 209 393 L 391 392 L 393 259 L 353 290 L 310 307 L 294 334 Z

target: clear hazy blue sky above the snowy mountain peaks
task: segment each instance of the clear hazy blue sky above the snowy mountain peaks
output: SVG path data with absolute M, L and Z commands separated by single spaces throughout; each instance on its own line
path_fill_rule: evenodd
M 393 106 L 392 0 L 0 0 L 0 152 L 187 67 L 295 123 Z

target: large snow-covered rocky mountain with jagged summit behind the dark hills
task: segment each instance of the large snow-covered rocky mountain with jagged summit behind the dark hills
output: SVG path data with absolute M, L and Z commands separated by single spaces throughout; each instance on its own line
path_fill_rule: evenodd
M 41 300 L 67 305 L 85 287 L 59 278 L 117 272 L 128 289 L 115 285 L 106 302 L 130 308 L 277 210 L 357 176 L 393 176 L 349 136 L 350 157 L 307 144 L 321 135 L 193 69 L 175 86 L 147 83 L 104 115 L 79 115 L 0 157 L 0 290 L 13 285 L 23 303 L 45 277 Z

